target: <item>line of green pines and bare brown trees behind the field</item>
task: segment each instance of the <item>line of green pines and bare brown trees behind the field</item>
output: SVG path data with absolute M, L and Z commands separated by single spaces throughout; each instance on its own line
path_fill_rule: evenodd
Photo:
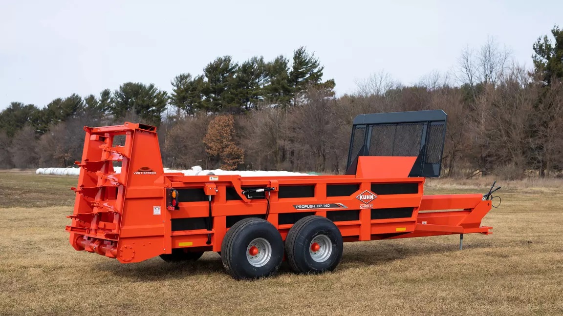
M 124 83 L 42 108 L 12 102 L 0 112 L 0 166 L 70 166 L 81 158 L 84 125 L 128 120 L 159 127 L 169 168 L 343 173 L 356 115 L 443 109 L 443 175 L 553 177 L 563 168 L 563 30 L 554 26 L 531 47 L 533 69 L 490 38 L 464 49 L 448 74 L 404 85 L 382 71 L 339 97 L 300 47 L 291 59 L 216 58 L 202 74 L 173 78 L 171 93 Z

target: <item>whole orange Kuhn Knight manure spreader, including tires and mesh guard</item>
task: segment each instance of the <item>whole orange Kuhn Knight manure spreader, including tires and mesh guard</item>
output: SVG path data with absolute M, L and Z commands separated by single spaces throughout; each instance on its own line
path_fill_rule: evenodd
M 343 242 L 491 233 L 481 219 L 492 188 L 423 195 L 425 178 L 440 175 L 443 111 L 365 114 L 353 124 L 345 175 L 284 177 L 165 173 L 155 127 L 84 127 L 70 243 L 122 263 L 216 251 L 245 279 L 271 276 L 284 259 L 298 273 L 333 270 Z

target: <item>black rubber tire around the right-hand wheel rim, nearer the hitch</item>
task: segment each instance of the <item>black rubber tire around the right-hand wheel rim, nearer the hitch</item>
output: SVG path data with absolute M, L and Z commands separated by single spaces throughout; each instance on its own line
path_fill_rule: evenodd
M 320 263 L 311 258 L 309 245 L 315 236 L 324 234 L 332 242 L 332 254 Z M 322 216 L 307 216 L 293 224 L 285 239 L 287 261 L 294 272 L 322 273 L 336 269 L 342 259 L 342 234 L 332 220 Z

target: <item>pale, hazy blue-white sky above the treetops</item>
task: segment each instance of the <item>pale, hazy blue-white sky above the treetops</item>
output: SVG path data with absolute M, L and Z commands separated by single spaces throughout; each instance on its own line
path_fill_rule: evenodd
M 219 56 L 272 60 L 306 46 L 339 95 L 385 71 L 404 84 L 445 73 L 489 37 L 532 66 L 563 1 L 0 1 L 0 109 L 112 91 L 172 91 Z

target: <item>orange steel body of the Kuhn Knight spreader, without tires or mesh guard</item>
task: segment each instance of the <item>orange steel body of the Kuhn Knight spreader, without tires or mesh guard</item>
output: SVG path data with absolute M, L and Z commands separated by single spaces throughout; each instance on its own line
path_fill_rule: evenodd
M 425 178 L 407 177 L 415 157 L 359 157 L 355 175 L 185 176 L 164 173 L 154 127 L 125 123 L 84 130 L 74 213 L 66 229 L 74 249 L 122 263 L 182 247 L 221 251 L 227 229 L 245 217 L 264 218 L 268 204 L 267 220 L 284 239 L 307 215 L 331 219 L 347 242 L 491 233 L 481 226 L 491 201 L 481 194 L 423 195 Z M 113 145 L 118 135 L 125 136 L 124 146 Z M 122 162 L 119 174 L 116 161 Z M 256 187 L 275 189 L 269 201 L 241 193 Z M 167 208 L 167 188 L 179 193 L 177 209 Z

